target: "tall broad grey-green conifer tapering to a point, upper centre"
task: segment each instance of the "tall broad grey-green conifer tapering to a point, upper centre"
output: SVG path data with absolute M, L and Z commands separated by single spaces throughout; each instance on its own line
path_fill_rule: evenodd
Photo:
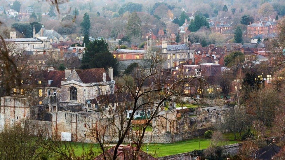
M 142 33 L 142 22 L 138 17 L 137 13 L 134 11 L 128 18 L 126 24 L 126 36 L 131 38 L 141 38 Z

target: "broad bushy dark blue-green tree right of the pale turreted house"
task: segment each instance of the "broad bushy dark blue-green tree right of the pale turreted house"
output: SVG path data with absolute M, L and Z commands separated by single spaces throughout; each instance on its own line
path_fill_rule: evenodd
M 210 28 L 208 21 L 206 20 L 205 16 L 195 15 L 194 20 L 191 20 L 188 29 L 191 32 L 198 31 L 201 27 Z

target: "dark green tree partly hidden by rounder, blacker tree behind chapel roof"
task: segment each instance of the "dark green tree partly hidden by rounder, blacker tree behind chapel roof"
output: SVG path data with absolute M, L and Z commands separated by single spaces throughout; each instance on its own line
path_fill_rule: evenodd
M 85 53 L 82 56 L 81 68 L 90 68 L 90 61 L 100 52 L 109 52 L 108 44 L 103 39 L 96 39 L 89 42 L 86 46 Z

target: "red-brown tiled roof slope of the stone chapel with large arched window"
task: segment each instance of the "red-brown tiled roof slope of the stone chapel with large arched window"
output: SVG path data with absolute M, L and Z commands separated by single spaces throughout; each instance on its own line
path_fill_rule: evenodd
M 83 83 L 95 83 L 103 81 L 103 72 L 106 72 L 104 68 L 89 68 L 89 69 L 76 69 L 76 73 Z M 107 74 L 107 81 L 110 81 L 110 77 Z

